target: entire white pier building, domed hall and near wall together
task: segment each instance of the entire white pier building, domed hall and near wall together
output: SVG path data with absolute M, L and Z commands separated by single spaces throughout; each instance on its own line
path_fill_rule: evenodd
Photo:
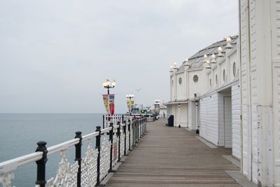
M 280 186 L 279 106 L 279 0 L 239 0 L 239 37 L 170 70 L 174 125 L 199 128 L 207 141 L 232 148 L 241 174 L 258 186 Z

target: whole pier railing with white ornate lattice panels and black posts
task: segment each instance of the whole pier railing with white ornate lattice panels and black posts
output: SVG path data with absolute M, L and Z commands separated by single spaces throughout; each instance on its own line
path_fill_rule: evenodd
M 114 120 L 116 120 L 116 123 L 113 122 Z M 0 184 L 3 187 L 11 187 L 11 181 L 15 178 L 15 169 L 36 161 L 37 170 L 39 171 L 37 172 L 36 187 L 98 186 L 100 181 L 120 161 L 120 158 L 123 158 L 124 155 L 132 150 L 134 143 L 138 142 L 146 132 L 146 118 L 139 117 L 134 121 L 129 119 L 125 121 L 123 115 L 118 115 L 114 116 L 110 123 L 108 127 L 102 130 L 100 127 L 97 127 L 96 132 L 86 134 L 83 137 L 81 132 L 76 132 L 74 139 L 51 146 L 50 148 L 45 147 L 46 143 L 44 141 L 39 141 L 37 143 L 37 152 L 1 162 Z M 93 139 L 96 141 L 95 148 L 92 146 Z M 87 145 L 84 157 L 81 155 L 82 143 Z M 70 164 L 66 159 L 66 152 L 70 146 L 76 147 L 76 158 L 73 158 L 75 160 L 73 164 Z M 47 181 L 45 179 L 45 167 L 48 166 L 47 158 L 49 155 L 59 151 L 61 160 L 58 164 L 57 174 Z

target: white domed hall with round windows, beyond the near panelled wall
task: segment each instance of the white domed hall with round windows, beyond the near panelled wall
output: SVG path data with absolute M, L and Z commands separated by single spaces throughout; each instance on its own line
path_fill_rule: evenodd
M 167 115 L 241 158 L 238 36 L 211 44 L 170 70 Z

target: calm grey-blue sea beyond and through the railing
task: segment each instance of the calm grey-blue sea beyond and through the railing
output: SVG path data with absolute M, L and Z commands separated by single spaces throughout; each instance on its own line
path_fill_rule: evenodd
M 76 131 L 82 135 L 94 132 L 97 126 L 102 127 L 102 116 L 102 113 L 0 113 L 0 162 L 34 153 L 38 141 L 45 141 L 50 147 L 73 139 Z M 85 149 L 83 145 L 82 154 Z M 74 151 L 74 146 L 67 150 L 71 163 Z M 46 179 L 55 177 L 59 160 L 59 153 L 48 156 Z M 35 181 L 36 162 L 32 162 L 15 170 L 12 186 L 35 186 Z

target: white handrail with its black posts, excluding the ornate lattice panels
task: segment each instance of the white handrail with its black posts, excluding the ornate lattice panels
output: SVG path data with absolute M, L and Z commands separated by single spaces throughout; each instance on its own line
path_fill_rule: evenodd
M 146 125 L 143 123 L 142 118 L 134 118 L 134 120 L 129 120 L 129 121 L 125 121 L 123 120 L 123 115 L 119 115 L 121 117 L 121 120 L 119 119 L 117 121 L 117 125 L 113 125 L 113 127 L 106 127 L 104 129 L 100 129 L 99 126 L 97 126 L 97 130 L 95 132 L 92 132 L 90 134 L 86 134 L 84 136 L 81 136 L 81 133 L 82 132 L 76 132 L 76 137 L 73 138 L 73 139 L 70 139 L 68 141 L 64 141 L 60 144 L 56 144 L 54 146 L 50 146 L 49 148 L 46 148 L 45 147 L 45 141 L 39 141 L 37 144 L 38 144 L 38 148 L 36 149 L 36 152 L 35 153 L 29 153 L 27 155 L 23 155 L 23 156 L 20 156 L 18 158 L 13 158 L 13 159 L 10 159 L 10 160 L 6 160 L 4 162 L 0 162 L 0 176 L 3 175 L 3 174 L 13 174 L 13 171 L 15 169 L 17 169 L 18 167 L 22 166 L 22 165 L 27 165 L 31 162 L 35 162 L 37 163 L 38 162 L 41 162 L 42 160 L 45 160 L 45 162 L 48 160 L 47 159 L 47 156 L 48 155 L 51 155 L 53 153 L 57 153 L 59 151 L 66 151 L 67 148 L 69 148 L 70 146 L 77 146 L 79 147 L 79 150 L 80 150 L 80 147 L 82 145 L 82 141 L 86 141 L 86 140 L 91 140 L 93 139 L 93 137 L 96 138 L 96 141 L 98 142 L 98 146 L 96 146 L 96 148 L 98 148 L 98 153 L 99 153 L 99 156 L 97 157 L 97 159 L 99 160 L 99 164 L 100 164 L 100 137 L 102 134 L 105 134 L 105 133 L 110 133 L 110 138 L 109 138 L 109 141 L 111 141 L 111 156 L 112 156 L 112 146 L 113 146 L 113 139 L 112 139 L 112 136 L 113 136 L 113 131 L 114 130 L 118 130 L 118 132 L 116 132 L 117 136 L 118 136 L 118 161 L 120 161 L 120 150 L 122 150 L 122 157 L 123 155 L 126 155 L 126 148 L 127 148 L 127 144 L 128 144 L 128 150 L 131 151 L 130 149 L 130 146 L 134 146 L 134 140 L 135 139 L 137 142 L 139 141 L 139 138 L 141 138 L 141 135 L 144 134 L 144 132 L 146 132 L 146 126 L 142 126 L 142 125 Z M 131 119 L 131 118 L 130 118 Z M 139 123 L 137 123 L 137 121 L 139 121 Z M 111 123 L 112 124 L 112 123 Z M 130 132 L 130 130 L 132 130 L 132 124 L 136 124 L 136 128 L 137 130 L 135 132 Z M 122 128 L 120 128 L 122 127 Z M 123 128 L 125 127 L 125 128 Z M 133 127 L 134 128 L 134 127 Z M 130 132 L 130 135 L 129 135 L 129 142 L 126 142 L 127 140 L 127 130 Z M 134 131 L 134 130 L 133 130 Z M 137 133 L 135 134 L 135 137 L 133 136 L 133 138 L 131 137 L 132 134 L 131 133 Z M 125 136 L 125 138 L 123 137 Z M 121 138 L 123 140 L 121 140 Z M 131 139 L 130 137 L 132 138 L 132 144 L 131 144 Z M 124 141 L 124 147 L 122 147 L 122 149 L 120 149 L 120 141 Z M 107 144 L 108 145 L 108 144 Z M 76 158 L 75 160 L 77 160 L 79 163 L 78 163 L 78 169 L 80 170 L 80 161 L 82 160 L 81 159 L 81 156 L 78 155 L 78 158 L 77 158 L 77 147 L 76 147 Z M 110 158 L 111 159 L 111 158 Z M 112 160 L 111 160 L 112 162 Z M 42 163 L 41 163 L 42 164 Z M 99 167 L 99 164 L 98 167 Z M 45 163 L 44 163 L 45 165 Z M 45 166 L 43 166 L 45 168 Z M 37 163 L 37 169 L 38 169 L 38 163 Z M 100 169 L 100 168 L 99 168 Z M 109 170 L 110 172 L 111 170 Z M 77 176 L 77 179 L 80 179 L 80 173 L 81 172 L 78 172 L 78 175 Z M 98 173 L 98 172 L 97 172 Z M 97 176 L 98 180 L 99 180 L 99 174 Z M 1 178 L 0 178 L 1 179 Z M 3 182 L 3 181 L 2 181 Z M 38 173 L 37 173 L 37 181 L 36 181 L 36 184 L 38 183 L 41 183 L 42 181 L 38 179 Z M 43 181 L 45 183 L 45 181 Z M 0 180 L 0 184 L 1 184 L 1 180 Z M 97 184 L 99 184 L 99 181 L 97 181 Z

